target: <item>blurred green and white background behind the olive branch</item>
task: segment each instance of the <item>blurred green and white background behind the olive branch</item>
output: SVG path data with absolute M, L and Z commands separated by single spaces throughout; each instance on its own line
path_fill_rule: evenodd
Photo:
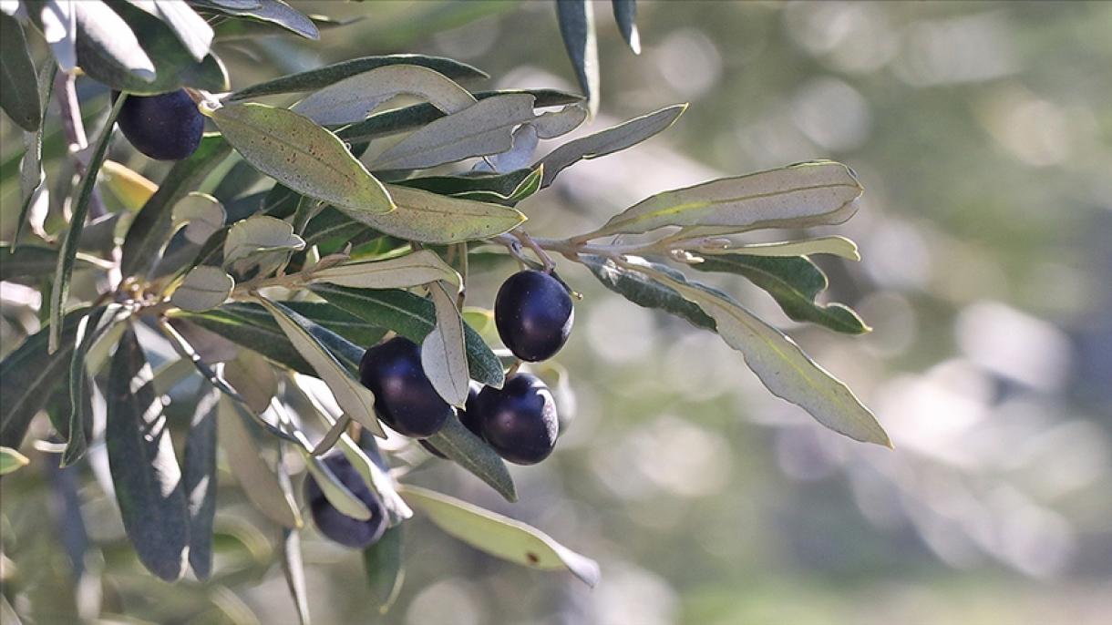
M 268 67 L 423 52 L 493 77 L 473 87 L 575 90 L 552 2 L 295 4 L 365 19 L 319 43 L 225 47 L 234 87 L 269 78 Z M 515 467 L 520 503 L 435 460 L 405 479 L 545 529 L 599 560 L 599 586 L 502 563 L 418 519 L 406 526 L 401 595 L 379 616 L 358 554 L 310 530 L 315 621 L 1108 623 L 1112 2 L 638 9 L 635 57 L 609 4 L 595 6 L 602 109 L 578 132 L 691 107 L 661 137 L 582 162 L 523 204 L 529 231 L 576 234 L 716 176 L 815 158 L 850 165 L 866 188 L 861 211 L 814 232 L 855 239 L 863 260 L 817 260 L 832 299 L 854 306 L 872 334 L 796 326 L 763 292 L 715 281 L 847 381 L 895 450 L 822 428 L 714 335 L 562 266 L 584 294 L 557 357 L 572 418 L 549 460 Z M 20 149 L 6 139 L 3 156 Z M 490 306 L 509 270 L 475 276 L 468 304 Z M 59 543 L 69 534 L 46 523 L 60 503 L 34 468 L 3 484 L 3 566 L 18 572 L 16 607 L 31 622 L 75 622 L 97 594 L 90 586 L 106 589 L 107 613 L 139 619 L 127 622 L 294 622 L 274 528 L 235 488 L 221 490 L 217 517 L 221 586 L 169 586 L 135 563 L 89 468 L 66 477 L 81 480 L 98 543 L 75 585 Z

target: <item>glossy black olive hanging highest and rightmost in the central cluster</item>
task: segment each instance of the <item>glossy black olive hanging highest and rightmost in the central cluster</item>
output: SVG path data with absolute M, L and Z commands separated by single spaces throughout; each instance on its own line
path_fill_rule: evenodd
M 556 278 L 526 269 L 503 282 L 494 302 L 494 321 L 506 347 L 522 360 L 552 358 L 572 334 L 572 296 Z

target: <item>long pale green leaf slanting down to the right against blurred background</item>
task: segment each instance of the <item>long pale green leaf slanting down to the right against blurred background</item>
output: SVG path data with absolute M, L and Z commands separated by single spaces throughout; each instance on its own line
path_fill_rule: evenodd
M 820 367 L 791 338 L 745 307 L 706 287 L 654 278 L 698 304 L 714 318 L 718 335 L 742 353 L 745 363 L 773 395 L 796 404 L 818 423 L 855 440 L 892 446 L 868 408 L 844 384 Z

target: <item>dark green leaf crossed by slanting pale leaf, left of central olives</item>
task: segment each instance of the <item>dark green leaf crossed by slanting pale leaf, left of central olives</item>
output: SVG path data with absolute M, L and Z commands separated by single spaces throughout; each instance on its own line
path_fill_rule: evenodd
M 416 297 L 416 296 L 414 296 Z M 420 298 L 417 298 L 420 299 Z M 386 330 L 369 325 L 364 319 L 350 315 L 330 304 L 314 301 L 287 301 L 287 307 L 311 319 L 332 337 L 325 343 L 334 346 L 331 351 L 350 371 L 359 370 L 359 359 L 364 348 L 378 343 Z M 187 319 L 224 338 L 266 356 L 270 360 L 307 375 L 316 375 L 311 366 L 301 358 L 285 333 L 278 327 L 265 308 L 255 304 L 225 304 L 220 308 L 205 312 L 172 310 L 172 318 Z M 318 333 L 324 336 L 324 333 Z M 347 344 L 341 346 L 340 341 Z

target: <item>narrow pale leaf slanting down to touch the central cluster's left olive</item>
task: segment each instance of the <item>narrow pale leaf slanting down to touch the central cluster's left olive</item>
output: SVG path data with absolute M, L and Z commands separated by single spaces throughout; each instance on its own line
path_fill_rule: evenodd
M 288 307 L 270 301 L 265 297 L 259 297 L 259 302 L 266 308 L 278 326 L 286 334 L 289 341 L 297 349 L 298 354 L 320 376 L 320 379 L 328 385 L 328 388 L 336 397 L 336 403 L 340 405 L 344 413 L 377 436 L 386 436 L 383 426 L 375 417 L 375 396 L 367 387 L 359 384 L 351 373 L 340 365 L 336 357 L 328 351 L 324 345 L 317 340 L 310 331 L 315 326 L 312 321 L 298 315 Z

